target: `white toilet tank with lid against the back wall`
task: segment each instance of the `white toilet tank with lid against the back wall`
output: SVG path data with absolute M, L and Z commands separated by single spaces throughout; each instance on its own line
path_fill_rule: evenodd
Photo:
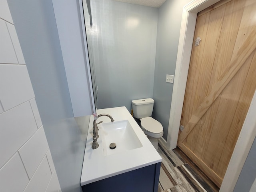
M 151 117 L 153 112 L 154 100 L 151 98 L 132 100 L 133 115 L 137 119 Z

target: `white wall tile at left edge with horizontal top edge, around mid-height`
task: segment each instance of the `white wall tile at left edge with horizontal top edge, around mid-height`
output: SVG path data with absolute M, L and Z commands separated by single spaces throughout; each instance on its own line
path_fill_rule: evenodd
M 0 64 L 0 90 L 4 111 L 34 98 L 26 65 Z

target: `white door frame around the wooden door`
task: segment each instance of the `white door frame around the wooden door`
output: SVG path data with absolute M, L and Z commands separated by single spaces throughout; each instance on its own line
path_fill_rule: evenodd
M 177 146 L 197 13 L 220 0 L 193 0 L 183 8 L 166 146 Z M 256 136 L 256 92 L 228 164 L 220 192 L 233 191 Z M 236 172 L 234 172 L 236 170 Z

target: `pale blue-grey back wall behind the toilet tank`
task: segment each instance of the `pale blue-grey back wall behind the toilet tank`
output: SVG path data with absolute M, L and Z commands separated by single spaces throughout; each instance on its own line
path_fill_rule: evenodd
M 92 48 L 98 108 L 152 98 L 158 8 L 93 0 Z

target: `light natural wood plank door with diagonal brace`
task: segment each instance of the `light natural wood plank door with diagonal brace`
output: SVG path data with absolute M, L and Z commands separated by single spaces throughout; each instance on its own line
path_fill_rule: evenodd
M 256 89 L 256 1 L 198 13 L 178 147 L 220 187 Z

